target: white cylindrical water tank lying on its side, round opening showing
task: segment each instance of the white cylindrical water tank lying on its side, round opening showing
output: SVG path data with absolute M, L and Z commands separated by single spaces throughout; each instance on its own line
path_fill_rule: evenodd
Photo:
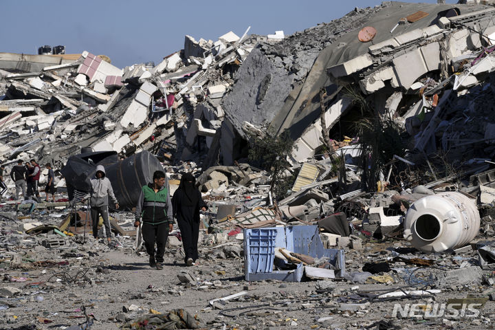
M 470 243 L 479 227 L 472 199 L 460 192 L 441 192 L 412 203 L 404 220 L 404 238 L 423 252 L 443 252 Z

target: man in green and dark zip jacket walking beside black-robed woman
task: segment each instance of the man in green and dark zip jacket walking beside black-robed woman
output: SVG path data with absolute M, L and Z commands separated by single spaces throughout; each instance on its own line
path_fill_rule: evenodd
M 153 173 L 153 183 L 141 188 L 140 198 L 135 210 L 134 227 L 139 227 L 142 217 L 142 236 L 146 252 L 150 256 L 151 267 L 162 270 L 165 244 L 168 232 L 173 230 L 172 203 L 166 184 L 165 173 L 161 170 Z M 157 251 L 155 254 L 155 241 Z

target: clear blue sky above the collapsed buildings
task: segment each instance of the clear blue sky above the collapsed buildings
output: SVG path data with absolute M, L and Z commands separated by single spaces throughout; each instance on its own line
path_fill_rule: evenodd
M 1 1 L 0 52 L 38 54 L 65 45 L 67 54 L 104 54 L 123 68 L 184 48 L 184 36 L 211 39 L 232 31 L 285 35 L 338 19 L 377 0 L 15 0 Z M 437 0 L 409 1 L 437 3 Z M 446 1 L 456 3 L 456 1 Z

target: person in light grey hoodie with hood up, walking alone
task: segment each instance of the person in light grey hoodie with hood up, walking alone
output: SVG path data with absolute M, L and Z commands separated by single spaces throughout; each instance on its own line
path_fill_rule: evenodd
M 100 219 L 101 214 L 105 232 L 107 232 L 107 240 L 110 243 L 111 228 L 108 215 L 109 197 L 111 198 L 112 203 L 115 204 L 115 208 L 119 208 L 119 205 L 115 195 L 113 195 L 111 182 L 107 177 L 105 177 L 105 170 L 102 165 L 96 166 L 95 177 L 90 180 L 90 183 L 91 199 L 89 201 L 89 205 L 91 206 L 91 220 L 93 221 L 93 236 L 95 239 L 98 238 L 98 219 Z

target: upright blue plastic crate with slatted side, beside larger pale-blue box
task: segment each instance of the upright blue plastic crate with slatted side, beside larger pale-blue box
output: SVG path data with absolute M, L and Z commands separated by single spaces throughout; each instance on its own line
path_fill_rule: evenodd
M 275 257 L 274 228 L 257 228 L 244 230 L 245 272 L 270 273 Z

